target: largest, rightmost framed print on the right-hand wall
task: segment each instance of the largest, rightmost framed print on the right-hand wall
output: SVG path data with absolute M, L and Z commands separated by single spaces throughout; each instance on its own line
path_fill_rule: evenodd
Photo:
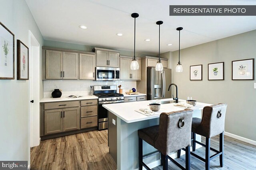
M 232 80 L 254 80 L 254 59 L 232 61 Z

